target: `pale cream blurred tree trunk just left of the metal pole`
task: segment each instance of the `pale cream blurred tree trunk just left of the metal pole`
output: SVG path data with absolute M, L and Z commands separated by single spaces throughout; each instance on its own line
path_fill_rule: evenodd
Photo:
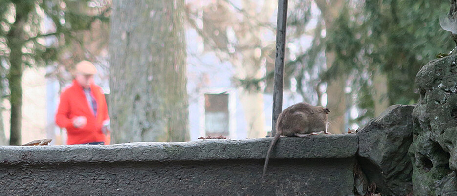
M 235 28 L 239 46 L 244 48 L 241 51 L 241 59 L 237 56 L 231 56 L 230 62 L 235 66 L 237 72 L 236 77 L 240 79 L 259 79 L 263 77 L 261 73 L 261 52 L 260 46 L 262 40 L 260 39 L 260 26 L 246 25 L 251 20 L 257 21 L 260 24 L 267 23 L 268 17 L 264 17 L 263 13 L 271 13 L 274 10 L 274 3 L 272 0 L 263 1 L 261 11 L 257 13 L 256 9 L 260 2 L 253 0 L 243 1 L 243 8 L 246 14 L 250 17 L 244 16 L 240 23 L 232 24 L 233 26 L 239 25 Z M 257 47 L 255 47 L 257 46 Z M 257 52 L 256 52 L 257 50 Z M 251 91 L 250 89 L 242 89 L 239 93 L 239 99 L 243 105 L 244 116 L 247 123 L 247 136 L 248 138 L 265 137 L 267 132 L 265 130 L 265 112 L 263 107 L 263 92 Z

